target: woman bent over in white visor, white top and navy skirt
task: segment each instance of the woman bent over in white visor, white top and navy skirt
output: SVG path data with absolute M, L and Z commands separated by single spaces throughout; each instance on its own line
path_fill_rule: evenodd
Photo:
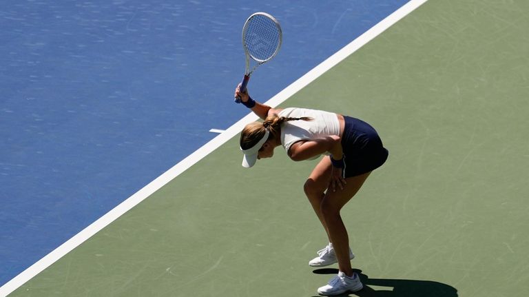
M 338 262 L 339 272 L 320 287 L 323 296 L 359 291 L 359 276 L 351 268 L 354 258 L 340 209 L 360 190 L 369 174 L 388 157 L 388 150 L 371 125 L 342 114 L 304 108 L 271 108 L 251 99 L 247 90 L 242 104 L 263 121 L 246 125 L 240 135 L 242 166 L 252 167 L 261 158 L 270 158 L 282 146 L 293 161 L 312 160 L 324 154 L 304 184 L 304 192 L 318 215 L 329 244 L 309 262 L 327 266 Z

